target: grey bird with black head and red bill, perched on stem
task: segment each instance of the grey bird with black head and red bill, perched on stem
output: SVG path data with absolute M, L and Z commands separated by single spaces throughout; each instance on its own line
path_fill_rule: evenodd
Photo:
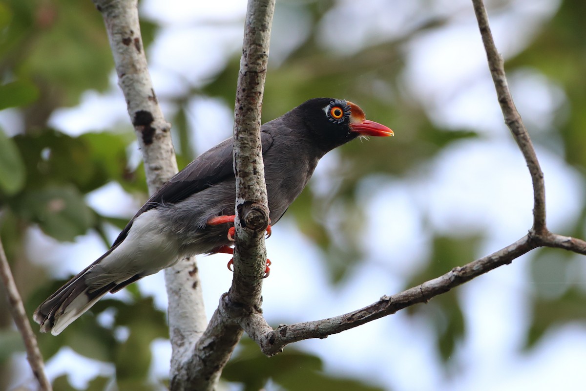
M 312 98 L 263 124 L 268 232 L 326 152 L 357 137 L 392 135 L 390 128 L 367 120 L 357 104 L 337 98 Z M 220 142 L 161 186 L 109 250 L 39 305 L 33 319 L 40 331 L 60 334 L 108 292 L 181 259 L 230 253 L 236 202 L 232 147 L 231 138 Z

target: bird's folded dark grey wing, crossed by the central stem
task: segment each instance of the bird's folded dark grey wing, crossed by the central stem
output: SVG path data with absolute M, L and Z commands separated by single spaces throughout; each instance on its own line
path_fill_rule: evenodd
M 263 147 L 263 154 L 272 145 L 272 135 L 268 132 L 261 131 L 261 144 Z M 190 164 L 185 166 L 173 178 L 169 179 L 161 188 L 149 198 L 149 200 L 142 205 L 137 214 L 132 217 L 128 225 L 124 227 L 122 232 L 114 241 L 113 246 L 122 242 L 127 236 L 130 227 L 134 220 L 147 212 L 149 209 L 156 208 L 156 206 L 165 203 L 177 203 L 188 198 L 190 195 L 202 191 L 225 181 L 228 178 L 234 178 L 232 147 L 234 145 L 233 139 L 229 138 L 220 142 L 213 148 L 208 149 L 202 155 L 197 157 Z

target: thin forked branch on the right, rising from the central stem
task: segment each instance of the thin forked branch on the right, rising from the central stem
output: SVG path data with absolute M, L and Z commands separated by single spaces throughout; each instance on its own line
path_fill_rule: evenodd
M 482 257 L 462 267 L 455 267 L 443 276 L 396 295 L 390 297 L 383 296 L 379 301 L 367 307 L 344 315 L 319 321 L 281 325 L 276 330 L 272 330 L 260 314 L 250 314 L 246 321 L 241 321 L 240 323 L 243 325 L 247 334 L 257 342 L 266 355 L 271 356 L 282 351 L 284 346 L 291 342 L 308 338 L 326 338 L 328 335 L 336 334 L 373 321 L 374 319 L 394 314 L 411 305 L 427 302 L 432 297 L 446 293 L 452 288 L 464 284 L 496 267 L 511 263 L 513 259 L 536 247 L 558 247 L 586 255 L 586 242 L 584 240 L 553 234 L 547 230 L 543 172 L 541 172 L 529 133 L 524 127 L 523 121 L 510 95 L 503 59 L 496 50 L 492 33 L 490 33 L 488 16 L 486 15 L 482 0 L 472 0 L 472 2 L 485 45 L 490 73 L 495 83 L 501 110 L 505 117 L 505 123 L 510 128 L 513 137 L 523 153 L 533 181 L 533 228 L 529 234 L 517 240 L 517 242 L 489 256 Z

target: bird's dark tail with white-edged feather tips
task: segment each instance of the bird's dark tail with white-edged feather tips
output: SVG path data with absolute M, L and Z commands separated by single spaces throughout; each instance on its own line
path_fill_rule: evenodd
M 40 324 L 41 332 L 59 334 L 114 287 L 115 283 L 94 289 L 88 287 L 85 277 L 89 270 L 88 267 L 71 278 L 35 310 L 33 319 Z

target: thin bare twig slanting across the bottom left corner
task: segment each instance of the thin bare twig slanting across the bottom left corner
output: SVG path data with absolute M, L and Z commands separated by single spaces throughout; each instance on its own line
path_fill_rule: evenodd
M 14 282 L 14 277 L 4 253 L 4 246 L 0 240 L 0 277 L 6 287 L 6 297 L 8 298 L 8 308 L 16 324 L 16 328 L 21 333 L 22 341 L 25 343 L 26 359 L 29 361 L 30 369 L 32 369 L 35 378 L 39 382 L 39 389 L 42 391 L 52 390 L 51 383 L 47 379 L 45 373 L 45 364 L 43 363 L 43 356 L 40 354 L 39 346 L 37 345 L 36 336 L 33 329 L 30 327 L 30 322 L 26 316 L 25 306 L 22 304 L 21 295 L 18 293 L 18 288 Z

